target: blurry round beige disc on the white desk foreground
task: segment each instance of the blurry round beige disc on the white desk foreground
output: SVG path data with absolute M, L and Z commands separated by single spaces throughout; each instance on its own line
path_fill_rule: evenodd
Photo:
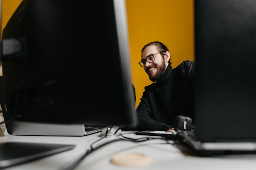
M 146 166 L 152 159 L 140 153 L 119 153 L 110 159 L 110 162 L 119 166 Z

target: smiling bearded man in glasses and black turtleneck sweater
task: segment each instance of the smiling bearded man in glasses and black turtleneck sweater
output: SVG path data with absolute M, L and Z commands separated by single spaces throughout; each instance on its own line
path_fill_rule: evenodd
M 136 109 L 138 130 L 174 131 L 174 118 L 193 120 L 193 77 L 195 64 L 184 61 L 171 66 L 171 53 L 161 42 L 150 42 L 141 50 L 139 65 L 153 82 L 145 87 Z

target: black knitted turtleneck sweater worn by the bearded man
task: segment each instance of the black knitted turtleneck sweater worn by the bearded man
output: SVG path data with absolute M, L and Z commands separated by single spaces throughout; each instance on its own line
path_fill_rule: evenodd
M 193 79 L 195 63 L 184 61 L 176 68 L 169 64 L 164 75 L 145 87 L 136 109 L 138 130 L 168 130 L 177 115 L 193 120 Z

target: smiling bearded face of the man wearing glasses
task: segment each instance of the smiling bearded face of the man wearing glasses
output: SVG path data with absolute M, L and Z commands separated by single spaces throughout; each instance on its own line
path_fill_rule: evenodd
M 159 51 L 157 51 L 156 46 L 151 45 L 151 46 L 147 46 L 144 51 L 142 51 L 141 53 L 141 60 L 146 60 L 146 58 L 152 57 L 151 54 L 154 54 L 154 58 L 155 60 L 151 63 L 147 62 L 144 64 L 144 70 L 146 71 L 146 73 L 148 74 L 149 79 L 152 82 L 155 82 L 159 79 L 159 77 L 161 77 L 162 74 L 164 74 L 164 71 L 167 67 L 166 62 L 164 60 L 164 58 L 162 57 L 162 55 L 160 53 L 158 53 Z M 155 54 L 157 53 L 157 54 Z

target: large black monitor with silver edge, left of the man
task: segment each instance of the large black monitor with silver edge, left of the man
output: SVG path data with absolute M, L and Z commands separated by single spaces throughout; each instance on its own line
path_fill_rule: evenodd
M 2 34 L 4 118 L 135 128 L 125 0 L 23 0 Z

